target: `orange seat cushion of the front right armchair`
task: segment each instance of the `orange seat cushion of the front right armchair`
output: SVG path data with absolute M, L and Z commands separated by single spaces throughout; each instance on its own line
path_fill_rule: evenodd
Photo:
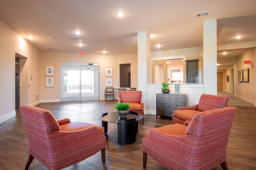
M 167 126 L 163 126 L 161 128 L 154 128 L 157 131 L 164 132 L 165 134 L 172 135 L 185 135 L 185 131 L 188 127 L 183 124 L 170 124 Z M 150 133 L 151 130 L 146 131 L 146 137 Z

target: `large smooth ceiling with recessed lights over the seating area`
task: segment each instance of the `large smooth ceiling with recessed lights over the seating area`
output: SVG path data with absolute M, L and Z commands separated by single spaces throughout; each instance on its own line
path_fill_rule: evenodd
M 153 34 L 152 51 L 202 46 L 204 20 L 256 15 L 255 6 L 255 0 L 0 0 L 0 19 L 26 39 L 34 36 L 29 42 L 42 51 L 122 54 L 137 53 L 137 32 L 144 30 Z M 119 11 L 126 13 L 122 19 Z M 197 18 L 198 12 L 209 15 Z M 76 30 L 82 48 L 72 39 Z M 230 30 L 223 26 L 219 37 Z M 232 42 L 234 33 L 218 42 Z

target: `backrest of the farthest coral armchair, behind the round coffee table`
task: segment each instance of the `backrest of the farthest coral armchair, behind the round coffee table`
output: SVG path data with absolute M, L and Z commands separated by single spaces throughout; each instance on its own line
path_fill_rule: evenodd
M 120 91 L 120 100 L 124 103 L 140 103 L 141 91 Z

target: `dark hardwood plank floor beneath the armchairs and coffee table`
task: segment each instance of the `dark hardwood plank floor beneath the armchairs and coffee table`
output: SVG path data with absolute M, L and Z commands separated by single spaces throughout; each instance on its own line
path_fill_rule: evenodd
M 70 118 L 71 121 L 86 121 L 101 125 L 101 114 L 115 110 L 115 101 L 88 101 L 39 104 L 50 110 L 57 120 Z M 137 141 L 133 145 L 117 145 L 116 124 L 109 124 L 106 143 L 106 165 L 102 165 L 100 152 L 83 162 L 65 169 L 144 169 L 142 166 L 142 139 L 145 131 L 171 124 L 171 120 L 154 115 L 145 116 L 144 125 L 139 123 Z M 0 124 L 0 169 L 24 169 L 28 158 L 27 138 L 22 117 L 17 116 Z M 227 148 L 227 166 L 229 169 L 256 169 L 256 107 L 237 107 L 237 114 L 230 134 Z M 30 165 L 33 169 L 47 169 L 34 159 Z M 165 169 L 150 156 L 147 169 Z M 220 165 L 214 168 L 221 169 Z

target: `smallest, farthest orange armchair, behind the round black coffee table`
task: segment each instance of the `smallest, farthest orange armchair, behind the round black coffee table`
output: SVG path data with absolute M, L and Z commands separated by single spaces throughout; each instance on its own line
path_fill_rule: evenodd
M 130 111 L 144 116 L 144 103 L 141 100 L 141 91 L 120 91 L 118 103 L 129 103 Z M 144 118 L 142 119 L 144 124 Z

